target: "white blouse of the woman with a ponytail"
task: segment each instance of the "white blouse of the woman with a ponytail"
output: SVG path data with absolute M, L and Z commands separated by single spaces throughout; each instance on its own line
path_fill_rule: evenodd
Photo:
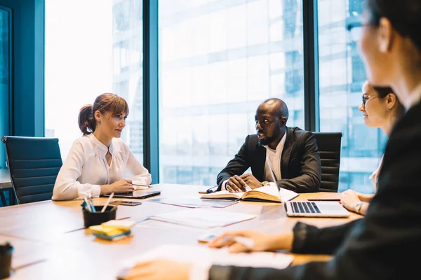
M 108 150 L 112 155 L 110 165 L 105 158 Z M 108 149 L 93 134 L 89 134 L 74 141 L 58 172 L 52 199 L 83 199 L 89 194 L 99 197 L 100 185 L 121 179 L 131 179 L 135 184 L 147 186 L 152 182 L 151 174 L 122 139 L 113 138 Z

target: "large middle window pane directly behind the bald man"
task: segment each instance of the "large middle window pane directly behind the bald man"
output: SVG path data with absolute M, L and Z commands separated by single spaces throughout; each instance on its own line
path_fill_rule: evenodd
M 159 0 L 161 183 L 212 186 L 269 97 L 304 128 L 301 0 Z

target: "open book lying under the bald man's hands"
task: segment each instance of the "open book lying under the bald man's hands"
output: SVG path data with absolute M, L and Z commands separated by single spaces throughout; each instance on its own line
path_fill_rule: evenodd
M 269 185 L 261 188 L 255 188 L 254 190 L 248 190 L 245 193 L 229 193 L 228 190 L 220 190 L 219 192 L 202 195 L 201 198 L 255 202 L 281 202 L 279 195 L 283 197 L 283 201 L 292 200 L 293 198 L 298 197 L 298 193 L 295 193 L 293 190 L 280 188 L 278 193 L 278 188 L 276 186 Z

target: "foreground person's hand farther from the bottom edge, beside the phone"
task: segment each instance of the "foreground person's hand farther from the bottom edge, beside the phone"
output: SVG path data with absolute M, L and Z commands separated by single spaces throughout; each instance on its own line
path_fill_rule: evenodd
M 249 248 L 244 244 L 235 241 L 235 237 L 246 237 L 253 240 L 253 247 Z M 236 232 L 225 232 L 209 242 L 210 248 L 229 247 L 230 253 L 241 253 L 247 251 L 276 251 L 292 248 L 293 232 L 286 232 L 281 235 L 265 235 L 251 230 L 239 230 Z

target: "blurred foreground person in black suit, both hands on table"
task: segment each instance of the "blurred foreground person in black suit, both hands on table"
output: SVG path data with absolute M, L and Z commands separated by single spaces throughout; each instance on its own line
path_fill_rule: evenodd
M 128 272 L 128 279 L 417 278 L 420 260 L 416 255 L 421 249 L 421 1 L 367 0 L 361 26 L 359 48 L 368 80 L 375 86 L 392 87 L 406 108 L 389 134 L 377 193 L 365 218 L 327 228 L 298 222 L 292 231 L 285 229 L 280 235 L 226 232 L 209 244 L 213 248 L 227 246 L 231 252 L 289 250 L 330 254 L 332 258 L 286 269 L 159 259 L 138 263 Z M 366 111 L 377 98 L 369 99 Z M 244 245 L 232 237 L 248 237 L 253 242 Z

